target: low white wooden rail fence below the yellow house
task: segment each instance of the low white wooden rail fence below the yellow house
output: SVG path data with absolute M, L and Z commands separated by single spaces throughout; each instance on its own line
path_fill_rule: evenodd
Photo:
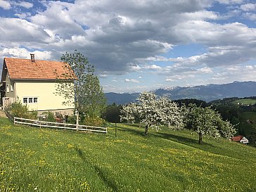
M 58 128 L 58 129 L 73 129 L 79 131 L 86 131 L 86 132 L 101 132 L 107 133 L 108 128 L 105 127 L 94 127 L 94 126 L 87 126 L 82 124 L 68 124 L 68 123 L 60 123 L 60 122 L 44 122 L 39 120 L 29 120 L 20 117 L 13 117 L 14 124 L 27 124 L 37 127 L 50 127 L 50 128 Z

